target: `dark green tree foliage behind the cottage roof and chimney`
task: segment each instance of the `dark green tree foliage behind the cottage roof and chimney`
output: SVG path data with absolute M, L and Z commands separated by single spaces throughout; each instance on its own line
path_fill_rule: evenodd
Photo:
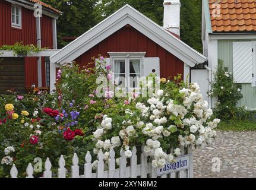
M 160 26 L 163 26 L 163 0 L 43 1 L 64 12 L 58 19 L 59 47 L 65 45 L 61 37 L 80 36 L 125 4 L 131 5 Z M 201 0 L 181 0 L 181 39 L 189 46 L 202 52 Z

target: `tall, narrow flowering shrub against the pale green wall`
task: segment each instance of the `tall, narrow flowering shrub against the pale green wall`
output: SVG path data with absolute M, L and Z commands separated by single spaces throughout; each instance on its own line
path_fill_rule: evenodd
M 231 119 L 236 117 L 239 109 L 236 107 L 238 100 L 242 99 L 242 85 L 233 81 L 232 72 L 228 72 L 219 60 L 219 67 L 214 74 L 214 81 L 211 84 L 212 90 L 208 91 L 209 96 L 217 99 L 214 107 L 214 114 L 220 119 Z

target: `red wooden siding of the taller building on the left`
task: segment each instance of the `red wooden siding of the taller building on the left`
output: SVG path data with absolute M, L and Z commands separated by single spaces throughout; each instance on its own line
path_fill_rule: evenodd
M 14 45 L 16 42 L 23 42 L 25 45 L 36 45 L 36 18 L 33 11 L 22 8 L 21 29 L 11 27 L 11 4 L 7 1 L 0 1 L 0 46 Z M 53 47 L 52 18 L 43 15 L 41 20 L 42 47 Z M 45 63 L 42 59 L 42 77 L 45 77 Z M 38 83 L 37 81 L 37 58 L 25 58 L 25 80 L 26 86 Z M 43 87 L 45 87 L 43 78 Z

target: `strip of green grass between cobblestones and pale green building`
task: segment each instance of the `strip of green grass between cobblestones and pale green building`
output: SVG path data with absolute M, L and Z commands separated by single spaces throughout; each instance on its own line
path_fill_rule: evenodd
M 256 131 L 256 122 L 249 120 L 222 121 L 217 129 L 220 131 Z

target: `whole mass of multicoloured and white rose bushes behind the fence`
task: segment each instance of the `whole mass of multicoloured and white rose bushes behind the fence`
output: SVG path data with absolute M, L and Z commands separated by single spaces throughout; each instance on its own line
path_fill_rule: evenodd
M 117 165 L 121 148 L 130 158 L 132 147 L 140 151 L 143 146 L 153 166 L 162 167 L 181 154 L 180 147 L 204 147 L 215 137 L 219 119 L 212 117 L 199 86 L 183 83 L 181 75 L 174 81 L 148 81 L 150 88 L 160 83 L 160 90 L 150 89 L 153 97 L 132 92 L 125 98 L 114 97 L 109 87 L 103 89 L 105 97 L 97 97 L 99 76 L 106 76 L 108 82 L 113 78 L 103 57 L 97 59 L 96 68 L 90 64 L 84 68 L 62 66 L 52 94 L 0 97 L 0 177 L 9 176 L 12 163 L 19 171 L 26 171 L 35 157 L 49 157 L 56 173 L 61 154 L 70 168 L 74 153 L 84 164 L 87 151 L 96 160 L 100 149 L 107 169 L 111 147 Z M 97 161 L 93 169 L 96 166 Z

